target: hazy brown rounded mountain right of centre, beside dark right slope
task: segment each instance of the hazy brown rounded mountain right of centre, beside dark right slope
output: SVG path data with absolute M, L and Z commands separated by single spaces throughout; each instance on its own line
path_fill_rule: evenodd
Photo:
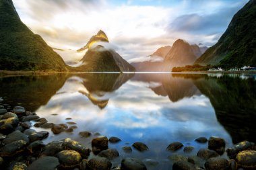
M 200 55 L 199 46 L 196 44 L 189 45 L 189 43 L 179 39 L 174 42 L 172 48 L 164 58 L 164 64 L 168 69 L 170 67 L 192 65 Z

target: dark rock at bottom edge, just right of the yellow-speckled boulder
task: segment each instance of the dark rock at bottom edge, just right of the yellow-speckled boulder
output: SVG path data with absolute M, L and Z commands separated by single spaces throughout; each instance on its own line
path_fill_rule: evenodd
M 112 163 L 106 158 L 96 157 L 88 161 L 88 169 L 90 170 L 110 170 L 111 167 Z

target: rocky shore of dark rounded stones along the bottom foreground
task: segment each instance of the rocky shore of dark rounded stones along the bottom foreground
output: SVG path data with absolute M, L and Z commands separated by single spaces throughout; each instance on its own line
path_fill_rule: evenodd
M 75 123 L 53 124 L 45 118 L 40 118 L 36 113 L 26 111 L 22 106 L 11 108 L 3 101 L 0 97 L 0 169 L 147 169 L 143 161 L 131 157 L 123 159 L 119 167 L 112 165 L 111 160 L 119 157 L 119 152 L 115 148 L 108 148 L 108 143 L 120 142 L 121 139 L 117 137 L 95 136 L 92 139 L 91 148 L 86 148 L 71 138 L 44 144 L 42 140 L 49 136 L 49 132 L 37 132 L 31 129 L 32 126 L 51 129 L 54 134 L 59 134 L 72 132 L 77 128 Z M 68 119 L 71 120 L 71 118 Z M 79 136 L 82 137 L 91 135 L 87 131 L 79 132 Z M 189 157 L 177 155 L 175 152 L 183 149 L 184 153 L 190 153 L 194 150 L 193 146 L 183 146 L 181 142 L 172 142 L 164 148 L 172 153 L 168 157 L 173 163 L 172 169 L 256 169 L 256 146 L 253 142 L 243 141 L 232 148 L 226 148 L 223 138 L 199 137 L 195 141 L 207 143 L 207 148 L 201 148 L 197 155 Z M 135 142 L 132 146 L 123 146 L 125 153 L 131 153 L 133 149 L 140 152 L 150 150 L 142 142 Z M 229 159 L 220 157 L 224 153 Z M 96 157 L 89 159 L 92 154 Z M 150 160 L 150 164 L 154 166 L 158 165 L 158 162 Z

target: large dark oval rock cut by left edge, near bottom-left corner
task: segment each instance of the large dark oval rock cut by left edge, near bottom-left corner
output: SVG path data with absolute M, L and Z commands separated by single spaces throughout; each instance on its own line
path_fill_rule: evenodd
M 22 151 L 24 151 L 26 144 L 27 142 L 24 140 L 18 140 L 6 144 L 1 148 L 0 157 L 13 157 L 18 153 L 22 153 Z

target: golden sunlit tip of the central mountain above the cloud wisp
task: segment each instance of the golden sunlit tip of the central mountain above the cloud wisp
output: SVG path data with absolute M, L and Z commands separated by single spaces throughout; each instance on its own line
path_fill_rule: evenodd
M 80 48 L 79 50 L 77 50 L 77 52 L 82 52 L 86 49 L 90 49 L 92 45 L 96 42 L 109 42 L 108 37 L 102 30 L 99 30 L 96 35 L 92 36 L 92 38 L 90 38 L 90 40 L 87 42 L 86 46 Z

